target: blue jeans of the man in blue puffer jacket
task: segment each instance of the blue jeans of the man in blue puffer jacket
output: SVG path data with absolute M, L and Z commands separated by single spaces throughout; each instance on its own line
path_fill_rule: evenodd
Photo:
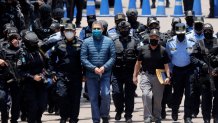
M 100 123 L 100 117 L 108 117 L 110 112 L 110 76 L 87 78 L 88 95 L 91 102 L 92 120 Z M 99 107 L 99 94 L 101 105 Z

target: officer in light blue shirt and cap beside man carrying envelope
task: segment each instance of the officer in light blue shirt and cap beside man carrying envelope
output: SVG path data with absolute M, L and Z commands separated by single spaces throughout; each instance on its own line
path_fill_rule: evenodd
M 185 33 L 185 24 L 176 24 L 176 36 L 168 40 L 166 50 L 171 58 L 173 65 L 172 82 L 173 82 L 173 99 L 172 102 L 172 119 L 177 121 L 179 105 L 185 90 L 185 104 L 184 104 L 184 121 L 185 123 L 192 123 L 192 77 L 193 67 L 190 64 L 190 54 L 193 50 L 195 42 L 187 39 Z

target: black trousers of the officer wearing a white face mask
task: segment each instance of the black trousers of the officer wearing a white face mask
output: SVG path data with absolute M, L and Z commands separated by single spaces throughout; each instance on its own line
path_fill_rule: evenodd
M 59 97 L 60 116 L 78 122 L 80 111 L 80 97 L 82 91 L 82 77 L 70 76 L 58 79 L 57 92 Z

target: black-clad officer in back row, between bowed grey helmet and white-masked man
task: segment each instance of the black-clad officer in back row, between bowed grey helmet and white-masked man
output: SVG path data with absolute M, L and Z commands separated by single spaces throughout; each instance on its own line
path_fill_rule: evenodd
M 47 4 L 43 4 L 39 8 L 40 17 L 34 21 L 33 31 L 37 34 L 40 40 L 48 38 L 52 33 L 50 26 L 54 21 L 51 17 L 51 7 Z

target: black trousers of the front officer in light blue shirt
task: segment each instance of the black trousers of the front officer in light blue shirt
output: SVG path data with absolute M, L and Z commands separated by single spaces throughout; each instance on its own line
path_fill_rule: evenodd
M 193 82 L 195 81 L 193 69 L 190 65 L 182 68 L 174 66 L 172 75 L 174 89 L 172 110 L 178 112 L 185 90 L 184 118 L 191 118 L 193 93 L 192 86 Z

